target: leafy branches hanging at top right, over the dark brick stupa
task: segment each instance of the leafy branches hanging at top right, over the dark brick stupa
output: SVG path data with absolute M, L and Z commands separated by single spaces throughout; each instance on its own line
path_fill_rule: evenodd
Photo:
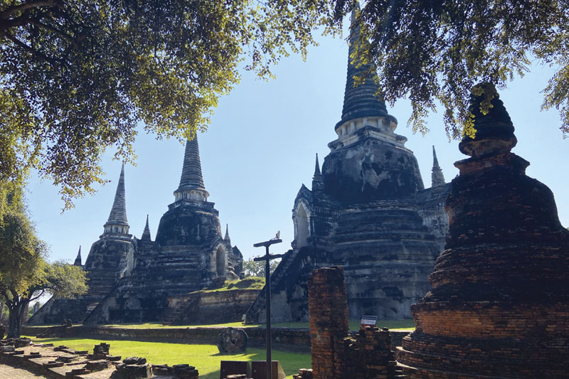
M 334 1 L 338 27 L 356 5 Z M 542 109 L 559 110 L 569 132 L 569 4 L 556 0 L 368 1 L 358 12 L 361 38 L 353 59 L 375 63 L 385 100 L 408 97 L 410 124 L 426 132 L 425 117 L 439 102 L 447 134 L 474 132 L 470 90 L 477 82 L 504 87 L 530 63 L 555 67 Z M 375 73 L 368 73 L 374 75 Z M 487 94 L 489 105 L 491 94 Z M 484 106 L 484 105 L 483 105 Z M 487 109 L 483 110 L 486 112 Z

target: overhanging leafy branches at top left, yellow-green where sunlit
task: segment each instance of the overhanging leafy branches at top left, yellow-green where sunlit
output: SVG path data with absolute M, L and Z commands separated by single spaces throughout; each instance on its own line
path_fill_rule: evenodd
M 102 183 L 100 159 L 134 159 L 136 127 L 205 129 L 238 65 L 262 78 L 306 55 L 321 1 L 0 0 L 0 181 L 37 169 L 66 206 Z

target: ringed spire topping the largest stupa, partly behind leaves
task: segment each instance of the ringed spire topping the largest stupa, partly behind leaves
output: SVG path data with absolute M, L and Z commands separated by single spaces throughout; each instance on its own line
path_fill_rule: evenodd
M 390 116 L 385 107 L 385 101 L 376 95 L 379 86 L 376 84 L 376 68 L 366 63 L 363 65 L 352 63 L 352 54 L 356 51 L 356 46 L 360 38 L 361 28 L 359 26 L 358 13 L 360 11 L 359 2 L 351 13 L 351 26 L 349 38 L 348 73 L 346 78 L 346 90 L 344 92 L 344 107 L 342 108 L 342 118 L 336 124 L 336 128 L 341 124 L 360 117 L 384 116 L 395 120 Z M 364 82 L 359 82 L 354 87 L 354 77 L 365 77 Z

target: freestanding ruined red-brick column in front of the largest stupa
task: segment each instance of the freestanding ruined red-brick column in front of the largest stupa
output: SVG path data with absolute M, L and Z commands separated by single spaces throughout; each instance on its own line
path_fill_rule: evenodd
M 342 378 L 348 336 L 344 267 L 315 269 L 308 279 L 310 342 L 314 379 Z

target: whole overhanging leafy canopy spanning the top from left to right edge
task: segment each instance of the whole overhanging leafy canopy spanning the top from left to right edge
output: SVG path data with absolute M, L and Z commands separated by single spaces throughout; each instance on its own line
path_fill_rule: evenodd
M 317 28 L 339 33 L 356 3 L 0 0 L 0 183 L 35 168 L 71 206 L 102 183 L 106 149 L 134 159 L 139 122 L 159 139 L 192 137 L 241 63 L 270 78 L 283 56 L 306 55 Z M 411 100 L 415 130 L 440 103 L 451 137 L 472 134 L 473 85 L 504 87 L 536 58 L 558 69 L 543 108 L 569 132 L 567 1 L 369 0 L 357 15 L 352 58 L 375 63 L 385 100 Z

